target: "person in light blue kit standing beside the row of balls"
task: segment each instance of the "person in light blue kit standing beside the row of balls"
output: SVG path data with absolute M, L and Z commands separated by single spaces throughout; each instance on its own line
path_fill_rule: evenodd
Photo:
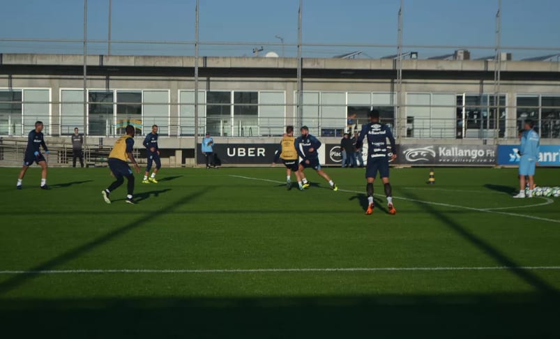
M 519 194 L 514 198 L 533 197 L 533 188 L 535 187 L 535 167 L 538 162 L 538 151 L 540 139 L 538 133 L 533 130 L 535 123 L 532 120 L 526 120 L 524 124 L 525 131 L 521 135 L 521 146 L 519 153 L 521 160 L 519 163 Z M 529 194 L 525 195 L 525 176 L 529 176 Z

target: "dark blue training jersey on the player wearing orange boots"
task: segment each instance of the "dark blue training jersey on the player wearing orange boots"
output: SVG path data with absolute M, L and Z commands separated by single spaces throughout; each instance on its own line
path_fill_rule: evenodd
M 356 148 L 360 149 L 363 145 L 363 140 L 368 138 L 368 158 L 369 159 L 384 159 L 393 155 L 395 151 L 395 137 L 391 133 L 391 128 L 384 123 L 366 123 L 362 126 L 362 131 Z M 391 143 L 387 144 L 387 139 Z M 391 146 L 389 149 L 388 146 Z

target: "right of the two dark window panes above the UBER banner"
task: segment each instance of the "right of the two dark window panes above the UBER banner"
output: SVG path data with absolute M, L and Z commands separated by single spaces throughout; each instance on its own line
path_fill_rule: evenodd
M 252 137 L 259 134 L 259 93 L 234 92 L 235 137 Z

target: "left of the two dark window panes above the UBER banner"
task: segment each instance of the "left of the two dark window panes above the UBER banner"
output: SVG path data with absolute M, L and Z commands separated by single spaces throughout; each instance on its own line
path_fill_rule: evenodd
M 206 92 L 206 131 L 211 135 L 231 136 L 232 93 L 229 91 Z

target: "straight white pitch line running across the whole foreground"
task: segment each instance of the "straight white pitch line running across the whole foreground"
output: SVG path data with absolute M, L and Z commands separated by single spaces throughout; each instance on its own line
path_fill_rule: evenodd
M 559 271 L 560 266 L 451 266 L 451 267 L 349 267 L 324 269 L 50 269 L 40 271 L 0 271 L 0 275 L 48 274 L 185 274 L 185 273 L 321 273 L 321 272 L 383 272 L 383 271 Z

